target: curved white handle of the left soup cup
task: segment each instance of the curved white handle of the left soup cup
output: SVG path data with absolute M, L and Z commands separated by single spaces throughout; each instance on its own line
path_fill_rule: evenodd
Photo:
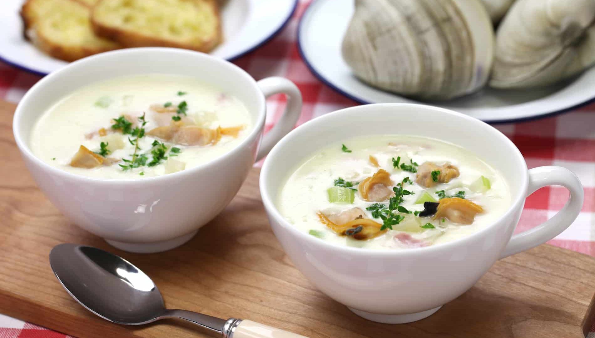
M 265 157 L 273 149 L 273 146 L 283 136 L 291 132 L 296 125 L 300 112 L 302 112 L 302 93 L 300 93 L 293 82 L 284 77 L 267 77 L 256 82 L 256 84 L 267 98 L 278 93 L 287 95 L 287 105 L 283 115 L 281 115 L 281 118 L 279 118 L 273 129 L 262 138 L 260 149 L 256 156 L 256 161 L 258 161 Z

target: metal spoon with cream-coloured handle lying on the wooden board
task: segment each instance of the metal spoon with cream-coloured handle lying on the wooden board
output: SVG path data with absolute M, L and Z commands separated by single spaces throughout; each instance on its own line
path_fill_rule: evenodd
M 181 318 L 225 338 L 307 338 L 249 320 L 166 309 L 149 276 L 126 259 L 91 246 L 57 245 L 49 253 L 49 264 L 80 305 L 112 323 L 142 325 Z

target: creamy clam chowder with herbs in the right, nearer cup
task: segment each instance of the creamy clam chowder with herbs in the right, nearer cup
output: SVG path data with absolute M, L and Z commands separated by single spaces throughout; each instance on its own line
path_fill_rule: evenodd
M 503 177 L 465 149 L 416 136 L 371 136 L 322 149 L 291 174 L 281 214 L 338 245 L 406 249 L 489 226 L 511 204 Z

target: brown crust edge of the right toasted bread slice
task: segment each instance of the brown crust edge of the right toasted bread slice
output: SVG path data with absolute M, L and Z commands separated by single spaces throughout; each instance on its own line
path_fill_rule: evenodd
M 98 6 L 101 1 L 99 0 Z M 97 20 L 93 10 L 91 12 L 91 26 L 93 27 L 93 32 L 96 35 L 104 37 L 106 39 L 115 41 L 120 43 L 120 45 L 124 47 L 173 47 L 173 48 L 183 48 L 183 49 L 192 49 L 193 51 L 199 52 L 210 52 L 214 49 L 221 41 L 223 40 L 223 34 L 221 32 L 221 16 L 219 12 L 219 7 L 215 0 L 203 0 L 207 1 L 212 10 L 214 11 L 215 15 L 217 15 L 217 35 L 212 37 L 212 39 L 205 40 L 201 45 L 190 45 L 186 43 L 179 43 L 177 41 L 168 40 L 168 39 L 161 39 L 155 36 L 149 36 L 140 32 L 134 32 L 133 30 L 124 30 L 118 27 L 108 26 L 107 24 L 101 23 L 101 21 Z

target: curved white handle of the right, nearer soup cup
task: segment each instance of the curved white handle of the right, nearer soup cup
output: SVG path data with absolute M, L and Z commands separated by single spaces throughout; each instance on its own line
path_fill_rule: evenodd
M 584 197 L 583 184 L 581 184 L 578 177 L 566 168 L 553 165 L 529 170 L 527 196 L 541 187 L 551 185 L 563 186 L 570 191 L 570 198 L 566 202 L 566 205 L 544 223 L 512 236 L 500 259 L 534 248 L 553 239 L 553 237 L 558 236 L 577 219 L 581 208 L 583 208 Z

